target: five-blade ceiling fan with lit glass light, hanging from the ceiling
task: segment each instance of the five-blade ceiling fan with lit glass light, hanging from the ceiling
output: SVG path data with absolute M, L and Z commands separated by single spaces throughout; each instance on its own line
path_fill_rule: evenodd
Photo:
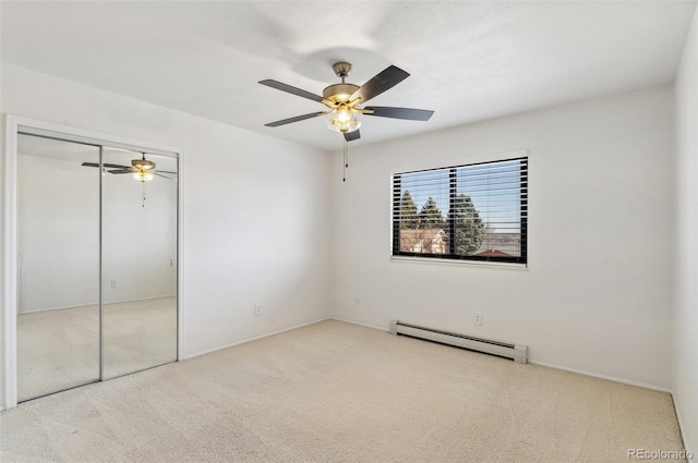
M 333 70 L 337 77 L 341 78 L 341 83 L 327 86 L 323 90 L 322 97 L 277 81 L 260 81 L 260 84 L 266 85 L 267 87 L 312 99 L 329 108 L 328 111 L 311 112 L 310 114 L 282 119 L 265 125 L 268 127 L 277 127 L 292 122 L 304 121 L 305 119 L 327 115 L 329 129 L 340 132 L 347 142 L 351 142 L 361 137 L 359 126 L 361 125 L 360 115 L 362 114 L 376 115 L 378 118 L 406 119 L 410 121 L 428 121 L 434 113 L 434 111 L 425 109 L 394 108 L 386 106 L 363 107 L 371 98 L 393 88 L 409 76 L 409 73 L 397 66 L 390 65 L 362 86 L 345 82 L 345 78 L 349 76 L 351 72 L 350 63 L 335 63 Z

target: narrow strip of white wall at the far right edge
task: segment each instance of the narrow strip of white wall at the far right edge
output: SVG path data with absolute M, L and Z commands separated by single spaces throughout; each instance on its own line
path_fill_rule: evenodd
M 673 389 L 684 444 L 698 452 L 698 10 L 676 76 Z

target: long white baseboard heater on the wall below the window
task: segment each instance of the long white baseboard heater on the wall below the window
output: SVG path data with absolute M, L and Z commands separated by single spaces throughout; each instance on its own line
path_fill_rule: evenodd
M 528 362 L 528 346 L 521 344 L 474 338 L 456 332 L 410 325 L 399 320 L 390 320 L 390 334 L 405 334 L 412 338 L 440 342 L 442 344 L 455 345 L 470 351 L 484 352 L 485 354 L 512 358 L 514 362 L 520 364 Z

